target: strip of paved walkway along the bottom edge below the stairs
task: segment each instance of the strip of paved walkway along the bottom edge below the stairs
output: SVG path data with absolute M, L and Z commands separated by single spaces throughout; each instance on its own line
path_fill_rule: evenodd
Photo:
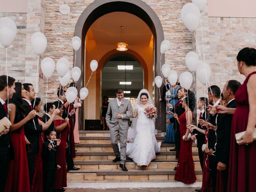
M 117 188 L 117 189 L 83 189 L 72 188 L 66 189 L 65 192 L 194 192 L 196 188 L 178 187 L 178 188 Z

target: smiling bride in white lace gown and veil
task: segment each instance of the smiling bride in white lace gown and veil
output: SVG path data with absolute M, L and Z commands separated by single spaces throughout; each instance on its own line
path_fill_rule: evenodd
M 160 152 L 161 142 L 157 143 L 155 136 L 155 119 L 146 116 L 145 108 L 154 106 L 148 90 L 142 89 L 137 98 L 134 120 L 128 130 L 127 138 L 134 138 L 133 143 L 127 145 L 127 156 L 138 166 L 148 166 Z M 130 113 L 129 111 L 127 113 Z

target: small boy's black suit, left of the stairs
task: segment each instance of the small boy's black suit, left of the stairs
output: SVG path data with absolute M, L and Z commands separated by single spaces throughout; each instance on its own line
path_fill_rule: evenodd
M 54 184 L 54 175 L 57 168 L 56 163 L 56 142 L 52 142 L 52 149 L 49 150 L 48 145 L 50 144 L 49 140 L 44 142 L 42 157 L 43 157 L 43 171 L 44 171 L 44 192 L 52 192 Z

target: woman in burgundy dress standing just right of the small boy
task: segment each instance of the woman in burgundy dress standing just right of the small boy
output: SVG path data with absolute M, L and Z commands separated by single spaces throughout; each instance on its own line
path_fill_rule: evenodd
M 56 163 L 61 167 L 55 172 L 54 190 L 64 191 L 67 186 L 67 170 L 66 170 L 66 143 L 68 140 L 69 119 L 61 117 L 63 113 L 62 103 L 54 102 L 55 106 L 59 106 L 60 113 L 54 117 L 54 128 L 57 132 L 57 139 L 60 139 L 60 145 L 57 146 Z

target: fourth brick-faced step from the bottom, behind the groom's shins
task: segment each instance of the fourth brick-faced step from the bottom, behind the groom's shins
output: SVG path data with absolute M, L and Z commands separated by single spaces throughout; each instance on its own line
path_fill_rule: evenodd
M 113 151 L 112 145 L 109 144 L 90 144 L 90 143 L 80 143 L 75 144 L 76 150 L 78 152 L 83 151 Z M 170 149 L 173 149 L 175 147 L 175 144 L 161 144 L 161 151 L 169 151 Z M 198 151 L 198 148 L 196 147 L 196 144 L 193 144 L 192 151 Z

